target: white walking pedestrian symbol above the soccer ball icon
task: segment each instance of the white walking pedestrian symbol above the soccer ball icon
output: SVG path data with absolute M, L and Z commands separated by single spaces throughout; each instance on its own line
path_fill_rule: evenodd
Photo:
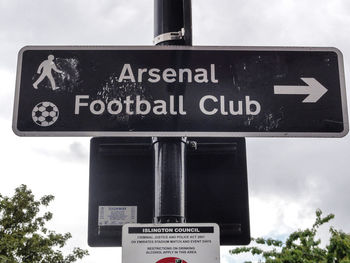
M 54 70 L 55 72 L 59 73 L 59 74 L 64 74 L 64 72 L 62 70 L 59 70 L 56 65 L 54 60 L 54 55 L 49 55 L 47 57 L 47 60 L 44 60 L 43 62 L 41 62 L 41 64 L 38 67 L 37 73 L 41 74 L 39 76 L 39 78 L 33 83 L 33 87 L 34 89 L 38 89 L 38 85 L 45 79 L 45 77 L 47 77 L 50 81 L 51 84 L 51 88 L 52 90 L 56 90 L 59 89 L 59 87 L 56 87 L 56 82 L 55 79 L 52 76 L 52 70 Z

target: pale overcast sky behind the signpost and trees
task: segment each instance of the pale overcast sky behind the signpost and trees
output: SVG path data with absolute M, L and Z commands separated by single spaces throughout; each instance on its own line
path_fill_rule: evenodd
M 152 45 L 151 0 L 0 0 L 0 193 L 27 184 L 53 194 L 51 228 L 87 247 L 89 138 L 23 138 L 11 130 L 17 53 L 25 45 Z M 193 0 L 194 45 L 326 46 L 344 55 L 349 83 L 350 1 Z M 349 92 L 348 92 L 349 93 Z M 247 139 L 252 236 L 284 237 L 314 211 L 350 232 L 350 137 Z M 222 263 L 242 257 L 221 249 Z M 121 262 L 89 248 L 84 262 Z

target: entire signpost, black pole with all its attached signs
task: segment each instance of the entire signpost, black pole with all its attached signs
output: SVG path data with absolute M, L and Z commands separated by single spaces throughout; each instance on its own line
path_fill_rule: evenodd
M 90 245 L 122 245 L 123 263 L 219 262 L 220 244 L 250 241 L 234 137 L 345 136 L 342 54 L 193 47 L 191 0 L 154 4 L 156 46 L 24 47 L 13 131 L 114 137 L 91 141 Z

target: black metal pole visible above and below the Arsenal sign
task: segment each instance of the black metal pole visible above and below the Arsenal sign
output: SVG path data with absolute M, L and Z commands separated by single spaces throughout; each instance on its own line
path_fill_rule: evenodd
M 192 45 L 191 0 L 154 0 L 157 45 Z M 154 222 L 186 222 L 186 138 L 153 138 Z

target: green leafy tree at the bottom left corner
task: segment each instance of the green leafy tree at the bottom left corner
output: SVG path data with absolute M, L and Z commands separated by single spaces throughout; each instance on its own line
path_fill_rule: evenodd
M 64 256 L 60 249 L 71 234 L 45 227 L 52 213 L 41 213 L 40 208 L 53 199 L 46 195 L 35 200 L 26 185 L 16 188 L 12 197 L 0 194 L 0 263 L 70 263 L 88 255 L 88 251 L 74 248 Z

